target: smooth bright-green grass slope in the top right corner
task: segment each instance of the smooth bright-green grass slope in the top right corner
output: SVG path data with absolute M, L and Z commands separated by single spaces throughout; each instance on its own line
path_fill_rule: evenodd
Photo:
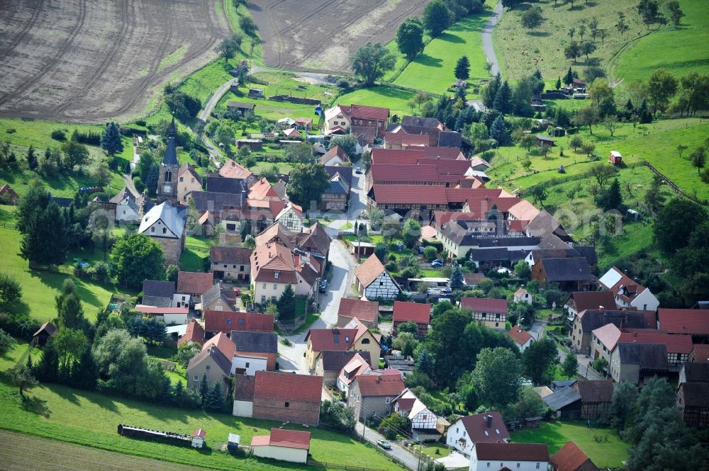
M 709 73 L 709 3 L 680 0 L 679 5 L 685 14 L 679 28 L 668 25 L 660 33 L 638 40 L 620 57 L 615 76 L 625 81 L 644 79 L 659 68 L 677 76 Z

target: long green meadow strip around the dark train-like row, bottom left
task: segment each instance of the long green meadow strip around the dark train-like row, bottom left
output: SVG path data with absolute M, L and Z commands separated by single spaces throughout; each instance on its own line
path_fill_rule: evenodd
M 302 465 L 283 462 L 235 458 L 221 451 L 228 433 L 239 433 L 242 443 L 248 444 L 252 436 L 267 434 L 270 427 L 280 426 L 279 422 L 237 419 L 228 414 L 207 414 L 203 411 L 160 407 L 58 385 L 35 387 L 29 395 L 30 399 L 23 402 L 16 388 L 9 387 L 4 382 L 0 384 L 0 404 L 3 409 L 0 429 L 31 433 L 126 455 L 220 470 L 306 469 Z M 124 438 L 116 433 L 118 424 L 182 433 L 201 428 L 206 430 L 209 448 L 195 450 Z M 301 426 L 293 424 L 286 427 L 302 429 Z M 310 450 L 313 460 L 367 466 L 386 471 L 400 469 L 383 455 L 349 436 L 317 428 L 311 428 L 309 431 L 313 434 Z

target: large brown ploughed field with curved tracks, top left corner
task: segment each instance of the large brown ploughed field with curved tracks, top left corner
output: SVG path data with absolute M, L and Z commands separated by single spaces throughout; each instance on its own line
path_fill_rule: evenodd
M 216 57 L 222 1 L 0 0 L 0 116 L 144 114 L 152 91 Z

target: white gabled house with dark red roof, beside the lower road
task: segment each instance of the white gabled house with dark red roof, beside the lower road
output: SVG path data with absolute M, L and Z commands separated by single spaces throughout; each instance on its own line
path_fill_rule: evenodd
M 469 457 L 475 443 L 510 441 L 510 433 L 499 412 L 462 416 L 448 427 L 446 445 Z

